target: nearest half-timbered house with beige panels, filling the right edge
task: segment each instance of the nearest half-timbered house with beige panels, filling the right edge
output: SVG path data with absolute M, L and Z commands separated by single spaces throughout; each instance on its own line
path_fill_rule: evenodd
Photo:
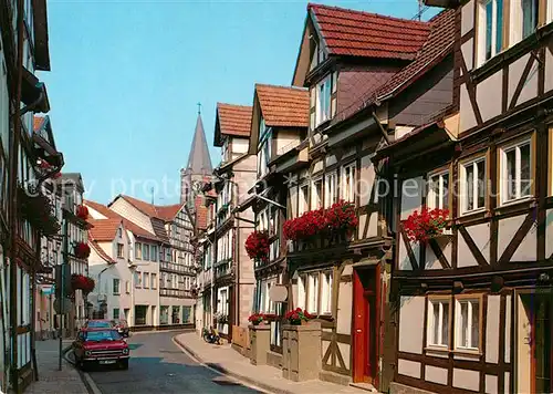
M 375 157 L 398 190 L 392 388 L 549 393 L 553 1 L 427 3 L 455 12 L 451 111 Z M 447 227 L 409 238 L 424 208 Z

